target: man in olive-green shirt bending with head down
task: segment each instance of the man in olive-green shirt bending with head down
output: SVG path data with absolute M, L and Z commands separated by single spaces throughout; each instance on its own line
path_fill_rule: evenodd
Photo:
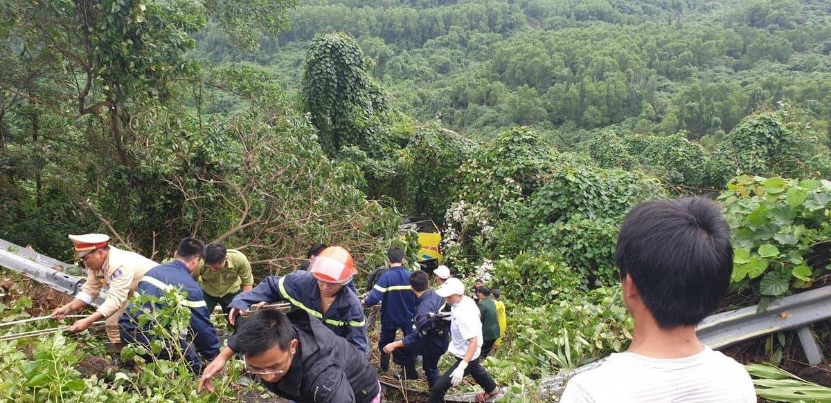
M 234 297 L 250 291 L 254 284 L 248 258 L 239 250 L 226 249 L 219 243 L 205 248 L 204 264 L 200 263 L 192 275 L 204 291 L 208 312 L 214 312 L 219 303 L 226 318 Z

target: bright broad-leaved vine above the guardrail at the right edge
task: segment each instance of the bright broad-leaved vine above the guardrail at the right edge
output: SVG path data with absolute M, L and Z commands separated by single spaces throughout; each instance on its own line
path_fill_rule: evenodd
M 831 269 L 831 182 L 743 175 L 718 199 L 732 230 L 736 286 L 778 297 Z

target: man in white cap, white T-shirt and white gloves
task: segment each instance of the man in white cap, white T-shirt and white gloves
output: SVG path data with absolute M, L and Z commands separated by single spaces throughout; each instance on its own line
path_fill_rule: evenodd
M 445 299 L 450 308 L 450 346 L 447 351 L 456 358 L 453 367 L 439 376 L 430 388 L 427 403 L 445 401 L 445 394 L 450 386 L 459 385 L 465 375 L 473 376 L 474 381 L 482 386 L 484 392 L 476 396 L 476 401 L 487 401 L 499 395 L 499 387 L 488 371 L 479 365 L 479 353 L 482 352 L 482 322 L 479 319 L 479 307 L 473 299 L 465 296 L 465 284 L 460 279 L 451 277 L 435 289 L 435 294 Z

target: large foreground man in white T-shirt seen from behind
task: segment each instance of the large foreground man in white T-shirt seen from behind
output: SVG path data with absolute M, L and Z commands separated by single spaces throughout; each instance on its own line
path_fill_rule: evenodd
M 750 403 L 753 382 L 738 362 L 696 337 L 696 324 L 730 285 L 730 229 L 701 197 L 650 201 L 621 225 L 617 267 L 635 319 L 632 345 L 568 382 L 562 403 Z

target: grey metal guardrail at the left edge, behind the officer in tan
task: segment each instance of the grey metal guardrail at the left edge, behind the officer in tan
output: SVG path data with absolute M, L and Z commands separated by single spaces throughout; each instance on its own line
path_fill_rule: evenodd
M 0 240 L 0 266 L 12 269 L 38 283 L 71 296 L 80 293 L 86 281 L 85 277 L 66 273 L 68 269 L 78 269 L 75 266 L 66 265 L 60 260 L 27 250 L 7 240 Z M 101 294 L 95 301 L 92 301 L 91 305 L 97 307 L 104 302 L 106 289 L 107 287 L 101 289 Z

